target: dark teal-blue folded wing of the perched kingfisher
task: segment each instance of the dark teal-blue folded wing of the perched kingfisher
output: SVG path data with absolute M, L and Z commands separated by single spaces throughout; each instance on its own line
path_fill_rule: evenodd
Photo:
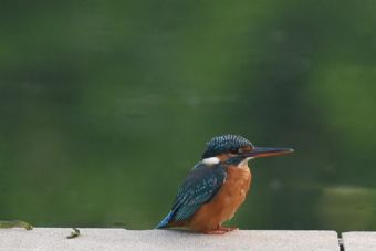
M 197 164 L 178 190 L 170 221 L 189 219 L 203 203 L 210 201 L 224 179 L 226 169 L 221 164 L 213 166 Z

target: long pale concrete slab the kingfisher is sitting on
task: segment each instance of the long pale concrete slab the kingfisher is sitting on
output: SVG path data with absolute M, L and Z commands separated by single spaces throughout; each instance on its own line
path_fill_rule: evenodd
M 224 236 L 174 230 L 0 229 L 0 251 L 340 251 L 335 231 L 233 231 Z

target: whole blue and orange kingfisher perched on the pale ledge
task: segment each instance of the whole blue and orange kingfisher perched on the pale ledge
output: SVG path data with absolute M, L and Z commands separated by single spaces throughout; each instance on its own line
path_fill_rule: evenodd
M 230 220 L 246 200 L 252 177 L 248 161 L 293 151 L 255 147 L 238 135 L 213 137 L 207 143 L 201 160 L 182 181 L 171 210 L 156 229 L 184 227 L 207 234 L 237 230 L 222 223 Z

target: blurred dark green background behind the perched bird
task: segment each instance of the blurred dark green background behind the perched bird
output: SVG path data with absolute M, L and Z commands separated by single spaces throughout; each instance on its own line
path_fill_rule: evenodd
M 0 219 L 150 229 L 212 136 L 251 161 L 230 224 L 376 229 L 376 2 L 4 1 Z

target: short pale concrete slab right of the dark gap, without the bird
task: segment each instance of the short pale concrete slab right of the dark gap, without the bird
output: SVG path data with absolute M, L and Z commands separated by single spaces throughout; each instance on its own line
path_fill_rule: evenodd
M 376 251 L 376 232 L 342 233 L 345 251 Z

